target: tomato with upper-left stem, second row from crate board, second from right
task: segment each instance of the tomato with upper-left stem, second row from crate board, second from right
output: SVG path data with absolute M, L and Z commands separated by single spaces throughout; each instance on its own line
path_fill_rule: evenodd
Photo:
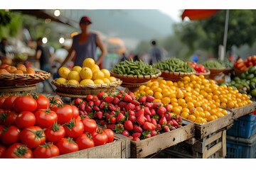
M 84 131 L 84 126 L 82 125 L 82 122 L 79 120 L 75 120 L 75 118 L 71 119 L 70 123 L 66 123 L 63 127 L 65 129 L 65 137 L 79 137 Z

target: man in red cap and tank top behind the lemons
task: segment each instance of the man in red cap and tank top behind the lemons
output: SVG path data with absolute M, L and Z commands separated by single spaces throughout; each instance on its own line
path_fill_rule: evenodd
M 82 33 L 73 37 L 73 43 L 68 51 L 68 56 L 65 58 L 60 67 L 63 67 L 63 65 L 65 65 L 65 63 L 68 62 L 74 55 L 74 66 L 82 67 L 82 62 L 86 58 L 96 60 L 97 47 L 100 47 L 102 53 L 95 64 L 99 65 L 103 61 L 105 55 L 107 55 L 107 48 L 96 33 L 90 33 L 90 24 L 92 24 L 92 22 L 90 21 L 89 17 L 83 16 L 80 19 L 80 29 Z

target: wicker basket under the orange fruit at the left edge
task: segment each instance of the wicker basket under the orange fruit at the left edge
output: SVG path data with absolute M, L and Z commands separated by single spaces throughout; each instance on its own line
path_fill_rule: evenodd
M 28 86 L 49 78 L 50 73 L 48 72 L 36 72 L 36 74 L 0 74 L 0 86 Z

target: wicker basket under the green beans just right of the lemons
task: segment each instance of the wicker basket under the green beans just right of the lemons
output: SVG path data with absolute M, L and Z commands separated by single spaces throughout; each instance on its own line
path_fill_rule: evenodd
M 161 72 L 159 69 L 157 69 L 157 71 L 159 72 L 158 74 L 147 76 L 129 76 L 127 74 L 115 74 L 113 72 L 110 72 L 110 74 L 112 77 L 117 77 L 118 79 L 121 79 L 124 83 L 144 83 L 146 81 L 159 77 L 161 75 Z

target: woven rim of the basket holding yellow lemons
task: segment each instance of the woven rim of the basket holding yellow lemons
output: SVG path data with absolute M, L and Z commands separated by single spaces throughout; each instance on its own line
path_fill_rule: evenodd
M 65 88 L 78 89 L 78 90 L 98 89 L 98 88 L 107 89 L 107 88 L 116 87 L 116 86 L 119 86 L 120 84 L 122 84 L 122 80 L 120 80 L 120 79 L 117 79 L 117 81 L 112 82 L 110 84 L 87 84 L 87 85 L 59 84 L 56 80 L 57 79 L 54 79 L 53 81 L 51 81 L 51 84 L 56 86 L 57 89 L 58 89 L 58 87 L 65 87 Z

